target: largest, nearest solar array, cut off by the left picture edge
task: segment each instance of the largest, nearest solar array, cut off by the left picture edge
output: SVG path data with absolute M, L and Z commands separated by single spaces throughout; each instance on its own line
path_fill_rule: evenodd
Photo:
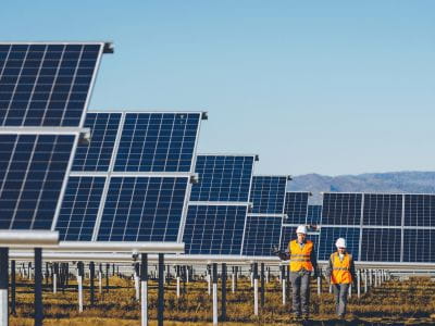
M 0 43 L 0 228 L 52 227 L 104 48 Z

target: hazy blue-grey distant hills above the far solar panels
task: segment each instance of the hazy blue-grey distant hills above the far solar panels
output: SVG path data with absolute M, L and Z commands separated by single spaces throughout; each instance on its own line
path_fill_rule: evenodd
M 310 203 L 321 203 L 322 191 L 435 193 L 435 172 L 387 172 L 360 175 L 294 176 L 289 191 L 311 191 Z

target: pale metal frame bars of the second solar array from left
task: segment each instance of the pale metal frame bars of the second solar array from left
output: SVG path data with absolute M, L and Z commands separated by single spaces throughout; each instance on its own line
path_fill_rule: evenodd
M 121 120 L 117 126 L 117 131 L 116 131 L 116 137 L 115 137 L 115 142 L 112 149 L 112 156 L 110 160 L 109 168 L 108 171 L 72 171 L 70 173 L 70 176 L 104 176 L 105 177 L 105 184 L 104 188 L 102 191 L 101 196 L 101 201 L 100 205 L 98 209 L 98 214 L 96 218 L 96 224 L 94 227 L 94 233 L 91 237 L 92 242 L 98 242 L 98 234 L 100 230 L 100 225 L 101 225 L 101 220 L 102 220 L 102 214 L 108 197 L 108 191 L 109 191 L 109 186 L 110 186 L 110 180 L 112 177 L 189 177 L 190 179 L 195 177 L 195 162 L 196 162 L 196 151 L 198 148 L 198 138 L 199 138 L 199 133 L 201 128 L 201 121 L 207 120 L 207 112 L 203 111 L 145 111 L 145 110 L 89 110 L 87 113 L 91 114 L 98 114 L 98 113 L 105 113 L 105 114 L 121 114 Z M 199 120 L 198 120 L 198 128 L 196 131 L 196 139 L 195 139 L 195 147 L 192 150 L 192 160 L 191 160 L 191 165 L 190 165 L 190 171 L 189 172 L 115 172 L 114 171 L 114 164 L 116 161 L 116 154 L 119 150 L 119 145 L 121 141 L 121 136 L 123 133 L 124 128 L 124 122 L 125 117 L 127 114 L 198 114 Z M 184 199 L 184 208 L 183 208 L 183 214 L 181 217 L 181 223 L 179 223 L 179 228 L 178 228 L 178 235 L 177 235 L 177 241 L 176 242 L 182 242 L 183 240 L 183 231 L 184 231 L 184 225 L 186 221 L 186 215 L 187 215 L 187 209 L 188 209 L 188 199 L 190 196 L 190 189 L 191 189 L 191 181 L 188 183 L 186 193 L 185 193 L 185 199 Z M 57 224 L 57 221 L 55 221 Z M 55 227 L 54 224 L 54 227 Z

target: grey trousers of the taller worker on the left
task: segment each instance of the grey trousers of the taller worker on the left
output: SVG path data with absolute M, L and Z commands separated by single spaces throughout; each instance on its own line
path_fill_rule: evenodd
M 310 272 L 290 272 L 293 312 L 308 314 L 310 303 Z

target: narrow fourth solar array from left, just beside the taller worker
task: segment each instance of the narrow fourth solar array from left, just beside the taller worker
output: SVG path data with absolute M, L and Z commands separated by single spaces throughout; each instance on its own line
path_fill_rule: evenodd
M 273 247 L 279 247 L 287 179 L 287 176 L 252 177 L 252 210 L 245 227 L 245 255 L 268 256 L 272 255 Z

